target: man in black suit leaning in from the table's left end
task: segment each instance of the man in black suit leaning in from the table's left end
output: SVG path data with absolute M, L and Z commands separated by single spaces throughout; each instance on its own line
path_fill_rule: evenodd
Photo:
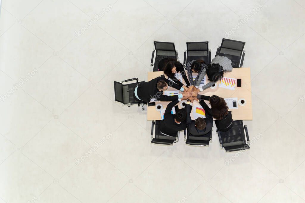
M 175 96 L 163 95 L 163 91 L 167 90 L 168 86 L 183 92 Z M 182 97 L 189 97 L 192 95 L 191 91 L 184 92 L 184 88 L 176 83 L 162 77 L 157 77 L 148 82 L 142 82 L 135 87 L 134 97 L 136 100 L 150 102 L 151 99 L 160 101 L 181 100 Z

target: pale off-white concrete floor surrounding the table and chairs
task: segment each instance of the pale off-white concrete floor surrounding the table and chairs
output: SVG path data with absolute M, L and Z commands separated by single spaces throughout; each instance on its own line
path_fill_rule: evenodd
M 305 202 L 304 19 L 303 0 L 2 1 L 0 203 Z M 246 42 L 251 149 L 224 152 L 216 130 L 205 148 L 151 144 L 113 81 L 147 80 L 154 40 L 182 61 L 222 38 Z

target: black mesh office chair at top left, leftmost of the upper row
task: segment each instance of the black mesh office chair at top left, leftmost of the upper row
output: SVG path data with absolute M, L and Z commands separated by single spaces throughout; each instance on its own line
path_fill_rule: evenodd
M 153 71 L 159 71 L 158 64 L 164 58 L 178 58 L 178 51 L 175 49 L 175 44 L 173 42 L 153 42 L 155 44 L 155 48 L 152 51 L 152 59 L 150 61 L 150 65 L 153 66 Z M 156 50 L 156 58 L 155 64 L 152 64 L 153 57 L 155 55 Z

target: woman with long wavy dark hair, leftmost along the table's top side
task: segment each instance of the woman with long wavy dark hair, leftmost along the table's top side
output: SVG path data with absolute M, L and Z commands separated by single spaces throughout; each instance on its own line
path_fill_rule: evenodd
M 188 82 L 188 78 L 185 75 L 185 70 L 183 69 L 183 65 L 179 61 L 175 60 L 174 58 L 168 58 L 168 60 L 165 62 L 165 65 L 163 67 L 163 72 L 165 75 L 167 75 L 168 78 L 172 79 L 176 84 L 188 90 L 188 86 L 190 86 L 190 83 Z M 182 78 L 184 79 L 186 85 L 184 85 L 175 77 L 176 73 L 178 72 L 181 73 Z

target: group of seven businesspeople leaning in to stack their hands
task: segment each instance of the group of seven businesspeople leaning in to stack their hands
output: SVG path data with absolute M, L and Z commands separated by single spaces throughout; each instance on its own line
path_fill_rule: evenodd
M 209 88 L 215 82 L 223 77 L 224 72 L 231 72 L 231 60 L 224 56 L 216 56 L 211 64 L 206 65 L 204 61 L 190 61 L 185 70 L 182 64 L 172 58 L 160 61 L 159 71 L 163 70 L 168 79 L 157 77 L 148 82 L 142 82 L 135 87 L 134 98 L 138 101 L 151 102 L 152 99 L 160 101 L 171 101 L 164 112 L 164 119 L 160 121 L 159 130 L 163 135 L 176 136 L 178 131 L 188 128 L 188 131 L 194 136 L 204 136 L 210 132 L 213 127 L 213 117 L 216 119 L 215 124 L 221 131 L 227 131 L 232 125 L 231 111 L 223 98 L 213 95 L 204 96 L 198 94 L 204 89 Z M 180 72 L 186 85 L 176 78 L 176 73 Z M 193 79 L 192 73 L 198 73 L 196 79 Z M 210 81 L 206 85 L 199 87 L 201 80 L 207 75 Z M 175 96 L 163 95 L 163 91 L 171 86 L 180 90 L 181 94 Z M 187 100 L 185 108 L 176 110 L 175 114 L 171 114 L 172 108 L 181 100 Z M 198 117 L 192 120 L 190 113 L 192 111 L 192 103 L 194 100 L 205 110 L 206 117 Z M 208 100 L 211 108 L 204 102 Z

